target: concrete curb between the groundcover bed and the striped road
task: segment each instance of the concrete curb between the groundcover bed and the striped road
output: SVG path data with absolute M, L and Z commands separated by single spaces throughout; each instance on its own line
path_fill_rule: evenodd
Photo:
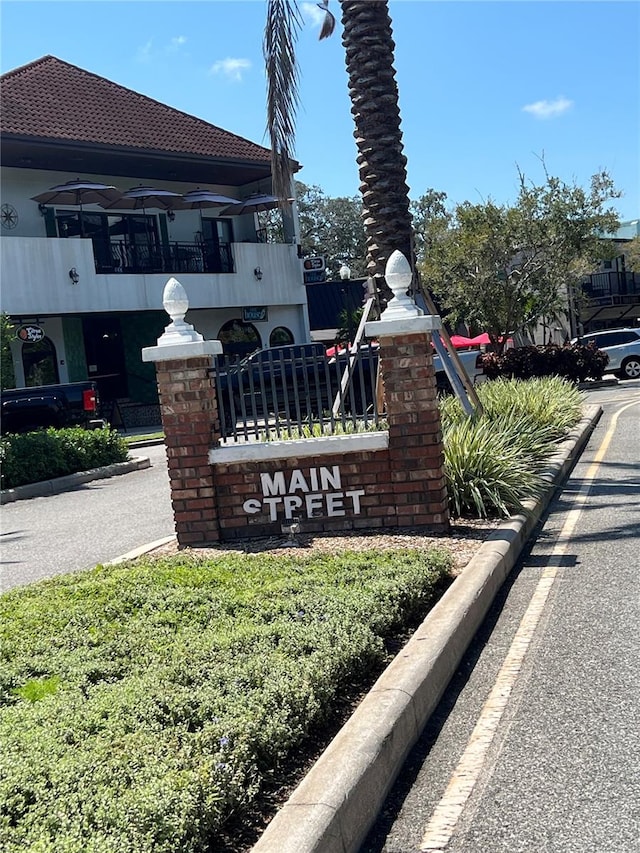
M 587 406 L 544 471 L 548 485 L 505 521 L 426 617 L 273 818 L 252 853 L 357 853 L 507 575 L 602 409 Z

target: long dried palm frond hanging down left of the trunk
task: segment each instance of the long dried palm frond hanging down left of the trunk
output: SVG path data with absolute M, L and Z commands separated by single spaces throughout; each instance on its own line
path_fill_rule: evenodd
M 267 74 L 267 132 L 271 141 L 273 192 L 291 194 L 295 119 L 300 103 L 295 46 L 302 26 L 295 0 L 268 0 L 263 54 Z

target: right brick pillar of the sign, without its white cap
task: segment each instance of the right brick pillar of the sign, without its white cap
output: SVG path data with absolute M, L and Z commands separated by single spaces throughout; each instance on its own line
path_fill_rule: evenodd
M 379 340 L 398 526 L 446 530 L 449 510 L 431 336 L 399 333 Z

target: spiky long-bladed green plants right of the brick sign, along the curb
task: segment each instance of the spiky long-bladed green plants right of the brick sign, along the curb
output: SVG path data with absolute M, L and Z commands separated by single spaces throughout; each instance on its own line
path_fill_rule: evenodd
M 580 419 L 582 396 L 559 377 L 498 379 L 477 392 L 479 417 L 468 418 L 456 398 L 440 400 L 450 511 L 509 516 L 540 493 L 541 464 Z

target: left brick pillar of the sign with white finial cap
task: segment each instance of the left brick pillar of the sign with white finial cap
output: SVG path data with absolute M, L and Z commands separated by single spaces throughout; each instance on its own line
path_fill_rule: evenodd
M 163 305 L 172 322 L 157 346 L 142 350 L 142 360 L 156 365 L 178 545 L 217 542 L 209 450 L 218 438 L 219 421 L 211 357 L 222 346 L 220 341 L 203 340 L 185 323 L 189 301 L 175 278 L 165 286 Z

